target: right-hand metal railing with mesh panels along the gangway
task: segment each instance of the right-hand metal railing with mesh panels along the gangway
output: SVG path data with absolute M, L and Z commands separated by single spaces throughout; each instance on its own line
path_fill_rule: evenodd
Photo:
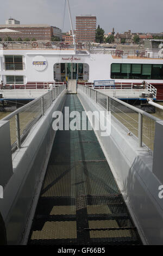
M 106 111 L 110 111 L 114 118 L 127 128 L 129 135 L 134 136 L 139 147 L 144 147 L 153 155 L 155 122 L 161 119 L 83 84 L 78 84 L 78 89 Z

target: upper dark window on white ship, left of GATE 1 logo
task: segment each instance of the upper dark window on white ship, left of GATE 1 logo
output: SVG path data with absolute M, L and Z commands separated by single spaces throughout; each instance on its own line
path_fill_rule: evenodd
M 23 70 L 22 56 L 5 56 L 5 70 Z

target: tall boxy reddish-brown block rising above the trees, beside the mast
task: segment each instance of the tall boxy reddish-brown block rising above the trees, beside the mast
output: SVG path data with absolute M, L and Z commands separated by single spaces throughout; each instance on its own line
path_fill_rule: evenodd
M 76 41 L 95 42 L 96 39 L 96 16 L 76 16 Z

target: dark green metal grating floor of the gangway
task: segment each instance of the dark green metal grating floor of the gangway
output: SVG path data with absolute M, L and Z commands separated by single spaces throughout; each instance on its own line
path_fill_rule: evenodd
M 65 106 L 84 111 L 77 95 Z M 141 244 L 94 131 L 57 131 L 28 244 Z

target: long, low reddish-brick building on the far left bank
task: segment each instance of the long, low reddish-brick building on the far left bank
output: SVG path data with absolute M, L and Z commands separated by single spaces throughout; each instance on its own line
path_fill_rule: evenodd
M 53 27 L 50 25 L 22 25 L 14 23 L 16 20 L 13 21 L 13 19 L 9 19 L 8 21 L 11 21 L 12 24 L 5 24 L 0 25 L 0 29 L 3 28 L 9 28 L 13 29 L 17 32 L 21 33 L 0 33 L 0 38 L 4 40 L 7 36 L 10 36 L 13 40 L 16 40 L 18 38 L 21 38 L 22 40 L 28 38 L 29 40 L 32 40 L 35 38 L 36 40 L 48 40 L 50 41 L 52 36 L 62 39 L 62 33 L 61 29 L 57 27 Z M 14 23 L 14 24 L 13 24 Z

